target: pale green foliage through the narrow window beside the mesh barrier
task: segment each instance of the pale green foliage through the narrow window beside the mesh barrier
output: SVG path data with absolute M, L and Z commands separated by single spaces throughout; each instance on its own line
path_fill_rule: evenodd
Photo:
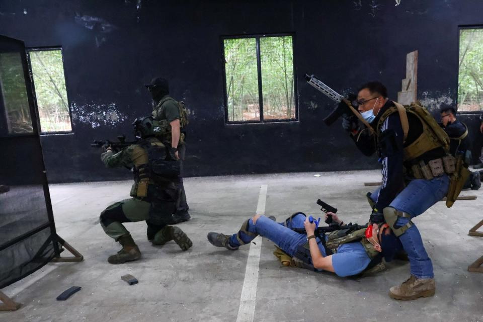
M 70 131 L 62 53 L 59 49 L 30 52 L 35 96 L 42 132 Z

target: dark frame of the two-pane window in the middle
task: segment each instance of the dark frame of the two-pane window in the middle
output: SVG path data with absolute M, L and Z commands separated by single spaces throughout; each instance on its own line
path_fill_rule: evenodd
M 289 119 L 264 119 L 263 114 L 263 85 L 262 85 L 262 63 L 260 55 L 260 38 L 267 37 L 292 37 L 292 57 L 293 57 L 293 98 L 294 98 L 294 118 Z M 258 98 L 260 104 L 260 120 L 247 120 L 247 121 L 229 121 L 228 118 L 228 96 L 226 93 L 226 63 L 225 63 L 225 39 L 239 39 L 239 38 L 255 38 L 256 49 L 257 49 L 257 78 L 258 78 Z M 221 47 L 221 64 L 223 72 L 223 105 L 225 113 L 225 125 L 232 124 L 264 124 L 264 123 L 286 123 L 286 122 L 299 122 L 298 118 L 298 91 L 297 91 L 297 64 L 295 59 L 295 33 L 266 33 L 266 34 L 247 34 L 247 35 L 223 35 L 220 36 L 220 47 Z

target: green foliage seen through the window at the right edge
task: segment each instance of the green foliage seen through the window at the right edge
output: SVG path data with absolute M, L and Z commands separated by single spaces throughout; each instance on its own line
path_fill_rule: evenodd
M 459 36 L 458 110 L 483 110 L 483 29 L 462 29 Z

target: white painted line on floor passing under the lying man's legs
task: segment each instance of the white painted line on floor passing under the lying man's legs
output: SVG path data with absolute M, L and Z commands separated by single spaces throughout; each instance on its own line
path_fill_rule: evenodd
M 265 203 L 267 202 L 268 185 L 260 187 L 260 195 L 258 197 L 257 214 L 265 214 Z M 262 237 L 257 236 L 250 243 L 250 252 L 248 253 L 247 269 L 245 270 L 245 279 L 243 288 L 241 289 L 240 307 L 236 322 L 253 322 L 255 315 L 255 304 L 257 302 L 257 284 L 258 270 L 260 263 L 260 252 L 262 250 Z

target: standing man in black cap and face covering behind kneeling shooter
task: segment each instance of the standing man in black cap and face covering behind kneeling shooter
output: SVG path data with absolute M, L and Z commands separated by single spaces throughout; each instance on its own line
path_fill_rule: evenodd
M 169 96 L 170 89 L 168 80 L 162 77 L 155 77 L 149 85 L 146 85 L 152 96 L 152 117 L 160 125 L 160 132 L 157 137 L 169 147 L 170 153 L 182 162 L 186 154 L 186 133 L 183 132 L 187 124 L 186 114 L 180 108 L 180 103 Z M 178 205 L 173 216 L 173 223 L 189 220 L 188 204 L 183 185 L 183 178 L 179 177 L 180 190 L 178 192 Z

